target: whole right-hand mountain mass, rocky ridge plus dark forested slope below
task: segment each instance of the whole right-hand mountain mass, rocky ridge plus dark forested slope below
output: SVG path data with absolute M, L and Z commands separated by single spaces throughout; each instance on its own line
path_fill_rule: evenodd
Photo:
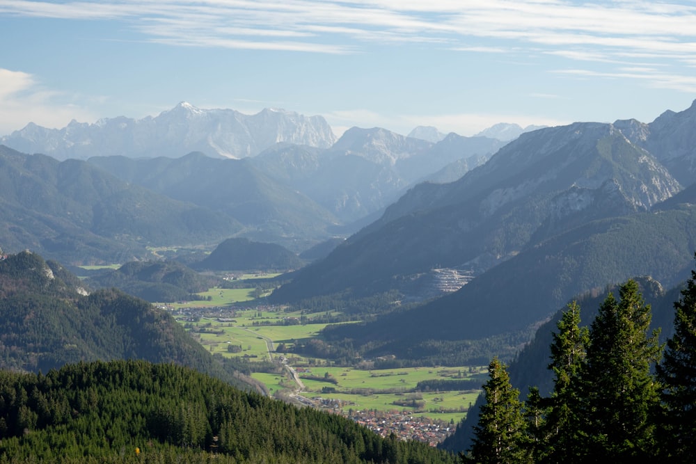
M 682 122 L 695 113 L 692 106 L 665 114 Z M 472 359 L 465 354 L 470 341 L 529 330 L 585 291 L 636 275 L 677 285 L 696 250 L 694 189 L 683 188 L 696 179 L 667 165 L 677 166 L 669 162 L 674 152 L 686 153 L 679 166 L 691 162 L 696 127 L 684 123 L 678 131 L 658 123 L 664 118 L 523 134 L 455 182 L 409 190 L 271 300 L 301 305 L 319 296 L 398 291 L 386 314 L 332 331 L 331 342 L 365 344 L 368 356 L 418 358 L 419 346 L 425 353 L 429 344 L 459 341 L 461 361 Z M 628 127 L 649 130 L 639 138 Z M 647 149 L 661 146 L 670 151 Z M 443 269 L 473 279 L 429 300 Z M 409 301 L 422 303 L 394 310 Z M 506 355 L 513 355 L 519 337 L 509 339 Z

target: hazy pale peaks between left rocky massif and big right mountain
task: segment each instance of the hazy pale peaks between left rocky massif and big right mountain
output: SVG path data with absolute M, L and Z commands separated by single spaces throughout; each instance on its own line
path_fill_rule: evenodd
M 478 166 L 502 145 L 457 134 L 430 143 L 378 127 L 354 127 L 327 150 L 278 145 L 250 161 L 350 224 L 381 212 L 429 175 L 460 168 L 458 161 Z

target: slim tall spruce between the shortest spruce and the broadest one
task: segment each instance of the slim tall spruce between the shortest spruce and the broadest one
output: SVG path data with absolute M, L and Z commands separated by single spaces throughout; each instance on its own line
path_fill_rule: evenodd
M 582 394 L 580 369 L 585 362 L 590 342 L 586 327 L 580 327 L 580 306 L 575 301 L 568 305 L 553 333 L 551 363 L 553 393 L 542 430 L 539 461 L 545 463 L 580 463 L 583 461 L 585 439 L 580 433 L 578 417 Z

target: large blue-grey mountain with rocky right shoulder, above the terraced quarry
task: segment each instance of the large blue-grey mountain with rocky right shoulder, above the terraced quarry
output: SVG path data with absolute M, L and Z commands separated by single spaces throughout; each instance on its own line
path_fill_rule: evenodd
M 456 182 L 411 189 L 278 297 L 311 296 L 303 293 L 310 281 L 326 293 L 369 292 L 438 267 L 482 273 L 588 221 L 649 211 L 681 188 L 613 125 L 540 129 Z

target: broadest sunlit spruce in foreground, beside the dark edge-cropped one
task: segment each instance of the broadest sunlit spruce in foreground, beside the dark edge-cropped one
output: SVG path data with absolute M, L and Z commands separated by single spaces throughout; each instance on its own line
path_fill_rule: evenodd
M 650 306 L 634 280 L 609 294 L 590 327 L 590 345 L 581 371 L 587 436 L 585 461 L 645 460 L 654 452 L 658 387 L 650 373 L 661 353 L 658 333 L 648 335 Z

